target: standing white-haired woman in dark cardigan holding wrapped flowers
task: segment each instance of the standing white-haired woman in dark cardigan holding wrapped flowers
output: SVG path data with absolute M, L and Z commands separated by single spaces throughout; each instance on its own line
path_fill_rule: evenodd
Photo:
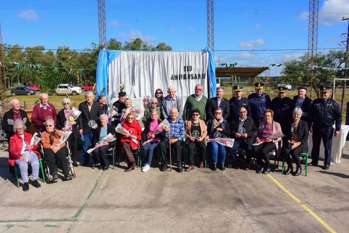
M 72 134 L 70 134 L 70 136 L 68 137 L 67 142 L 68 142 L 70 152 L 72 152 L 73 166 L 77 167 L 77 166 L 79 166 L 79 165 L 77 165 L 77 158 L 76 158 L 77 141 L 79 140 L 79 137 L 80 137 L 79 130 L 77 129 L 77 124 L 79 123 L 79 118 L 77 118 L 76 121 L 69 122 L 68 126 L 65 126 L 68 115 L 69 115 L 70 111 L 72 110 L 70 108 L 71 104 L 72 104 L 72 102 L 70 101 L 69 98 L 63 98 L 62 105 L 64 108 L 62 110 L 60 110 L 57 114 L 56 126 L 57 126 L 57 129 L 62 130 L 62 131 L 64 131 L 64 130 L 73 131 Z

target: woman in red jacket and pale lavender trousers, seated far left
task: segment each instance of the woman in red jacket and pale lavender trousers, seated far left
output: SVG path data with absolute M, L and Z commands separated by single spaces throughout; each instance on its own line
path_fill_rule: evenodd
M 30 133 L 24 132 L 27 130 L 24 122 L 18 119 L 13 124 L 13 134 L 10 138 L 10 155 L 8 162 L 14 166 L 15 163 L 20 167 L 21 177 L 24 182 L 23 191 L 29 190 L 29 178 L 28 178 L 28 164 L 31 165 L 33 174 L 33 185 L 35 188 L 40 188 L 41 185 L 38 182 L 39 176 L 39 152 L 35 151 L 39 148 L 38 145 L 30 145 L 31 138 L 33 137 Z M 34 151 L 32 151 L 34 150 Z M 29 153 L 28 161 L 25 157 Z

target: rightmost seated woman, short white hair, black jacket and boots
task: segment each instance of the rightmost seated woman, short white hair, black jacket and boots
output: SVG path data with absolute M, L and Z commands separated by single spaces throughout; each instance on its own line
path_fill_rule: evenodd
M 292 159 L 296 163 L 296 172 L 292 175 L 299 176 L 302 172 L 302 167 L 300 166 L 300 153 L 308 153 L 308 125 L 305 121 L 302 121 L 300 117 L 302 117 L 303 111 L 300 108 L 295 108 L 293 110 L 293 119 L 294 121 L 289 126 L 289 129 L 283 137 L 282 140 L 282 149 L 281 155 L 285 158 L 288 168 L 285 172 L 285 175 L 289 175 L 293 172 L 292 162 L 290 158 L 290 154 Z

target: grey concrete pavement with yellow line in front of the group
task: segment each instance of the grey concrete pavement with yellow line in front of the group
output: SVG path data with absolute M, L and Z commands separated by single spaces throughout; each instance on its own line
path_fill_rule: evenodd
M 28 192 L 16 187 L 8 152 L 0 152 L 0 232 L 349 232 L 348 144 L 342 163 L 309 167 L 308 176 L 160 172 L 154 158 L 146 173 L 125 173 L 125 163 L 79 166 L 76 178 L 30 184 Z

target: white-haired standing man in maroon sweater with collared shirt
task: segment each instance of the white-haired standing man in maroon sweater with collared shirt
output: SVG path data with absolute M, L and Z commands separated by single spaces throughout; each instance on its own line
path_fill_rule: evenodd
M 38 129 L 38 132 L 45 131 L 44 125 L 46 124 L 46 118 L 52 117 L 54 124 L 57 122 L 57 112 L 53 104 L 49 104 L 49 95 L 46 93 L 40 94 L 40 103 L 36 104 L 33 108 L 31 115 L 31 122 L 34 127 Z

